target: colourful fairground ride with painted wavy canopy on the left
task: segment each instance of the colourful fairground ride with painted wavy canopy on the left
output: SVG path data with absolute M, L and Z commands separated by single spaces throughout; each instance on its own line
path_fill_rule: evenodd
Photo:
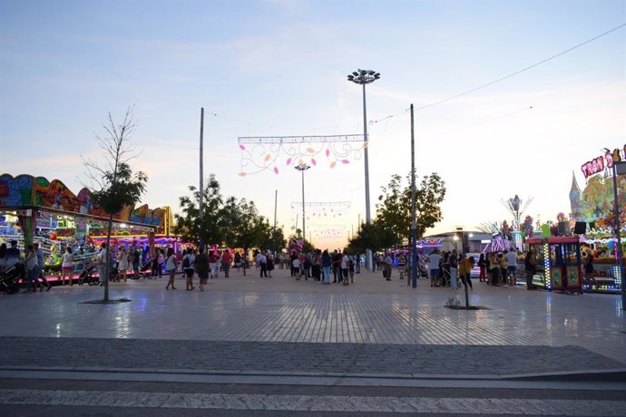
M 0 243 L 16 240 L 24 249 L 39 242 L 46 272 L 61 266 L 65 247 L 73 247 L 75 270 L 80 270 L 105 238 L 108 216 L 92 203 L 89 189 L 76 195 L 58 179 L 0 175 Z M 144 256 L 155 245 L 174 246 L 170 236 L 171 209 L 125 207 L 113 215 L 112 247 L 138 245 Z

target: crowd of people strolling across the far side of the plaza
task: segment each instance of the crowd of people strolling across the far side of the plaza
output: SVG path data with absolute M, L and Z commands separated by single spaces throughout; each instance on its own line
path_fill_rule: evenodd
M 230 276 L 230 268 L 238 272 L 241 267 L 248 267 L 248 252 L 209 248 L 209 250 L 194 247 L 181 248 L 175 252 L 173 247 L 155 247 L 148 254 L 142 253 L 142 248 L 133 244 L 131 247 L 114 247 L 110 264 L 109 279 L 112 281 L 126 281 L 134 278 L 157 278 L 167 276 L 166 289 L 176 289 L 175 275 L 182 273 L 187 277 L 186 289 L 193 290 L 193 276 L 199 278 L 199 288 L 204 289 L 208 279 L 217 278 L 220 273 L 224 277 Z M 0 272 L 8 267 L 20 264 L 24 267 L 24 277 L 28 283 L 28 291 L 49 290 L 52 286 L 44 276 L 44 252 L 39 244 L 26 247 L 24 262 L 20 263 L 20 250 L 17 242 L 0 245 Z M 107 247 L 102 244 L 100 251 L 94 258 L 95 267 L 103 284 L 106 276 Z M 275 268 L 289 269 L 290 276 L 299 281 L 309 278 L 322 284 L 354 284 L 355 274 L 360 273 L 362 257 L 349 254 L 346 250 L 315 249 L 308 253 L 292 250 L 290 253 L 272 253 L 271 251 L 255 251 L 250 258 L 259 276 L 272 277 Z M 473 289 L 471 272 L 477 265 L 478 280 L 489 286 L 515 286 L 517 264 L 523 260 L 527 276 L 527 287 L 534 289 L 533 275 L 536 272 L 536 259 L 532 252 L 523 256 L 511 248 L 508 251 L 481 253 L 476 260 L 473 256 L 452 251 L 439 252 L 438 250 L 425 255 L 417 256 L 418 276 L 430 280 L 430 286 L 445 286 L 457 289 L 460 284 Z M 64 247 L 62 255 L 61 285 L 72 286 L 74 278 L 73 247 Z M 405 251 L 386 251 L 375 254 L 374 270 L 382 270 L 386 280 L 391 280 L 392 270 L 397 268 L 402 278 L 405 274 L 410 284 L 412 259 Z M 585 268 L 586 269 L 586 268 Z M 586 272 L 586 271 L 585 271 Z

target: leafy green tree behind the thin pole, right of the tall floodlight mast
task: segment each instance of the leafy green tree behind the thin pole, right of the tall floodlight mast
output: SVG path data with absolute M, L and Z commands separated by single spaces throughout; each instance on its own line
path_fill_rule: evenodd
M 389 184 L 383 187 L 383 195 L 378 197 L 377 220 L 391 229 L 399 245 L 411 236 L 411 175 L 406 176 L 407 185 L 403 188 L 402 179 L 395 174 Z M 428 228 L 432 228 L 443 218 L 441 203 L 445 198 L 445 181 L 435 172 L 425 176 L 416 184 L 416 229 L 421 238 Z

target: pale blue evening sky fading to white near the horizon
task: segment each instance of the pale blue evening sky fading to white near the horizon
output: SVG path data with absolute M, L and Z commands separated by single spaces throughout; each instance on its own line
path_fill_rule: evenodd
M 109 112 L 132 107 L 142 203 L 176 212 L 199 183 L 204 108 L 205 175 L 289 235 L 301 174 L 270 146 L 261 163 L 276 158 L 278 174 L 242 168 L 238 138 L 362 135 L 361 86 L 347 81 L 360 68 L 381 74 L 367 85 L 372 217 L 381 187 L 411 170 L 413 103 L 418 181 L 436 172 L 447 189 L 427 233 L 510 221 L 501 200 L 515 194 L 554 220 L 570 212 L 572 172 L 584 186 L 582 163 L 626 143 L 626 27 L 563 52 L 624 23 L 623 0 L 0 0 L 0 171 L 77 193 Z M 360 143 L 345 157 L 335 145 L 304 174 L 322 248 L 345 245 L 366 211 Z

